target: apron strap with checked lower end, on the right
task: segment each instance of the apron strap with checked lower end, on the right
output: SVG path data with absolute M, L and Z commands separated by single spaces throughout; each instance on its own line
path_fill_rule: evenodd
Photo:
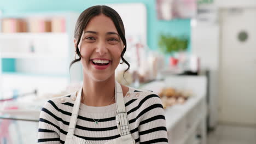
M 125 110 L 123 91 L 118 82 L 115 82 L 115 101 L 117 105 L 117 115 L 115 116 L 115 119 L 117 121 L 119 133 L 121 136 L 131 134 Z

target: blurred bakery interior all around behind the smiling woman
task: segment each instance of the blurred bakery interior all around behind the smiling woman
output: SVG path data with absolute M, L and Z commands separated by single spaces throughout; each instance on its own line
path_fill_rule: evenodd
M 131 68 L 115 79 L 159 95 L 168 143 L 256 143 L 255 0 L 11 0 L 0 2 L 1 144 L 37 143 L 44 103 L 80 88 L 74 26 L 99 4 L 125 25 Z

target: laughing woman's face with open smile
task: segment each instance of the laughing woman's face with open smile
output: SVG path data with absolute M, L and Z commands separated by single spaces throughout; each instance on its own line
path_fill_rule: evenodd
M 103 14 L 93 17 L 82 37 L 79 45 L 84 75 L 95 81 L 114 76 L 124 45 L 113 21 Z

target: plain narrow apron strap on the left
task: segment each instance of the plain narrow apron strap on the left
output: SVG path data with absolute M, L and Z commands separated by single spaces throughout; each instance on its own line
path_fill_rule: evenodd
M 71 95 L 71 97 L 72 96 L 75 97 L 76 93 L 77 92 L 73 93 L 73 95 Z M 80 88 L 80 90 L 77 94 L 77 98 L 74 103 L 71 119 L 69 121 L 69 126 L 68 126 L 68 133 L 67 133 L 67 137 L 66 137 L 67 141 L 69 141 L 69 140 L 71 141 L 72 137 L 74 135 L 75 125 L 77 124 L 77 117 L 78 117 L 78 112 L 79 112 L 79 107 L 80 107 L 81 95 L 82 95 L 82 88 Z

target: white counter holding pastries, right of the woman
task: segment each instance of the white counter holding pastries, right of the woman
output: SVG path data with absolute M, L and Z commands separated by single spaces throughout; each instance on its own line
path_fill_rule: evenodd
M 194 93 L 183 105 L 174 105 L 165 110 L 168 142 L 206 144 L 206 77 L 168 76 L 164 81 L 152 82 L 142 88 L 158 92 L 161 86 L 190 89 Z M 197 135 L 200 135 L 200 139 Z

